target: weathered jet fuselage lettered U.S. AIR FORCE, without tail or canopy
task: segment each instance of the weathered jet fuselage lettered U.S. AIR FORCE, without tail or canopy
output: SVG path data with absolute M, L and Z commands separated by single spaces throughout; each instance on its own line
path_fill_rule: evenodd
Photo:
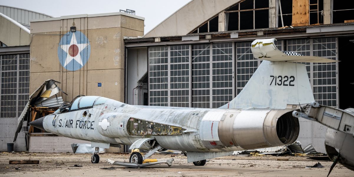
M 276 121 L 295 109 L 153 107 L 108 99 L 92 108 L 48 115 L 43 126 L 46 131 L 65 137 L 131 145 L 143 136 L 129 135 L 127 131 L 128 120 L 137 118 L 185 129 L 182 135 L 144 135 L 155 137 L 166 149 L 222 152 L 284 145 L 276 135 Z M 99 126 L 104 119 L 109 122 L 105 130 Z

